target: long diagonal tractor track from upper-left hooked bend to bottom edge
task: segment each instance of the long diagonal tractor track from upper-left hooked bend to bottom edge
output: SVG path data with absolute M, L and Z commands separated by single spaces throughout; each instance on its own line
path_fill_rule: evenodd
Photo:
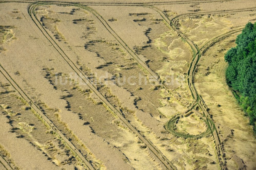
M 47 4 L 53 4 L 53 3 L 47 3 Z M 59 4 L 59 3 L 58 3 Z M 61 3 L 62 4 L 62 3 Z M 67 4 L 64 3 L 65 5 L 74 5 L 74 4 Z M 88 77 L 86 75 L 84 75 L 84 73 L 70 60 L 70 58 L 65 54 L 65 52 L 59 47 L 59 45 L 55 42 L 55 40 L 50 36 L 50 34 L 47 32 L 47 30 L 45 30 L 45 28 L 41 25 L 40 21 L 36 18 L 35 15 L 35 8 L 37 6 L 40 6 L 42 4 L 32 4 L 29 6 L 28 8 L 28 12 L 29 15 L 31 16 L 31 19 L 35 22 L 36 26 L 41 30 L 41 32 L 44 34 L 44 36 L 48 39 L 48 41 L 54 46 L 54 48 L 58 51 L 58 53 L 63 57 L 63 59 L 67 62 L 67 64 L 74 70 L 74 72 L 76 72 L 76 74 L 89 86 L 89 88 L 102 100 L 102 102 L 108 107 L 110 108 L 110 110 L 112 110 L 121 120 L 124 124 L 127 125 L 127 127 L 129 127 L 130 130 L 132 130 L 136 135 L 138 135 L 138 137 L 140 138 L 140 140 L 142 140 L 142 142 L 144 142 L 144 144 L 152 151 L 152 153 L 159 159 L 159 161 L 161 161 L 163 163 L 163 165 L 167 168 L 167 169 L 176 169 L 176 167 L 174 167 L 170 161 L 162 154 L 161 151 L 159 151 L 154 144 L 146 139 L 143 135 L 141 135 L 140 132 L 138 132 L 136 130 L 136 128 L 134 128 L 126 118 L 124 118 L 122 116 L 122 113 L 120 111 L 118 111 L 108 100 L 106 100 L 104 98 L 104 96 L 97 90 L 97 88 L 95 87 L 95 85 L 88 80 Z

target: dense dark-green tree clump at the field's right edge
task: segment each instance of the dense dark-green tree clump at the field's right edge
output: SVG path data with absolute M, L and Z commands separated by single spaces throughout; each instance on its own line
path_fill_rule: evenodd
M 256 132 L 256 22 L 246 24 L 236 44 L 225 55 L 226 79 Z

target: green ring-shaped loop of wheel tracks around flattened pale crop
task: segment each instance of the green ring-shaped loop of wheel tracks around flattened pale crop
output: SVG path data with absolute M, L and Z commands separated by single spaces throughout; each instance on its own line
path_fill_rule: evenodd
M 189 133 L 182 133 L 177 131 L 177 126 L 176 124 L 178 123 L 179 119 L 183 118 L 183 115 L 176 115 L 172 117 L 165 125 L 165 129 L 171 132 L 173 135 L 177 137 L 184 137 L 184 138 L 202 138 L 204 136 L 207 136 L 212 133 L 212 131 L 215 129 L 214 123 L 212 122 L 211 119 L 208 119 L 207 117 L 202 118 L 201 120 L 204 121 L 206 124 L 207 128 L 204 132 L 198 134 L 198 135 L 192 135 Z

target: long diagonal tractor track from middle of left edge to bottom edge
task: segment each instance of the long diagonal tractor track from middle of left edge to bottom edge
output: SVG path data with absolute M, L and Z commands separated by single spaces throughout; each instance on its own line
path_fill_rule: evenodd
M 19 87 L 19 85 L 13 80 L 13 78 L 8 74 L 8 72 L 3 68 L 0 64 L 0 72 L 4 75 L 4 77 L 9 81 L 9 83 L 13 86 L 13 88 L 19 93 L 21 100 L 23 100 L 26 104 L 31 107 L 31 110 L 38 114 L 38 117 L 42 122 L 46 124 L 46 126 L 50 127 L 56 135 L 58 135 L 63 142 L 66 143 L 67 147 L 70 148 L 71 151 L 77 155 L 78 160 L 82 160 L 85 165 L 90 169 L 94 169 L 92 165 L 84 158 L 84 156 L 78 151 L 78 149 L 62 134 L 62 132 L 55 126 L 55 124 L 48 119 L 44 113 L 39 109 L 37 105 L 29 98 L 29 96 Z

